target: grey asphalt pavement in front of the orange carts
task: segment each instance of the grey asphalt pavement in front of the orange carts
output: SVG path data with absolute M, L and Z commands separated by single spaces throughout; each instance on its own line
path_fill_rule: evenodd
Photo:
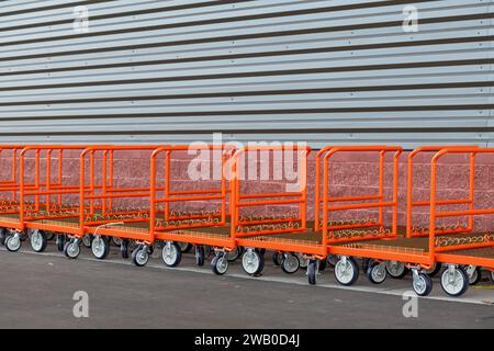
M 260 279 L 239 264 L 218 278 L 192 257 L 176 270 L 157 258 L 138 269 L 116 251 L 69 261 L 53 246 L 44 254 L 1 248 L 0 328 L 494 328 L 489 286 L 450 299 L 436 281 L 433 296 L 418 299 L 418 318 L 405 318 L 409 278 L 343 288 L 326 271 L 308 286 L 302 271 L 289 276 L 269 263 Z M 89 318 L 74 317 L 76 291 L 89 295 Z

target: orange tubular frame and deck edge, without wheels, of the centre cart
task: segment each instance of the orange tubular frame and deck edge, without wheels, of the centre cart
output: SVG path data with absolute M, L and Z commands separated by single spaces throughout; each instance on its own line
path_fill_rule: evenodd
M 248 152 L 259 151 L 297 151 L 300 152 L 299 167 L 302 167 L 302 174 L 304 181 L 303 190 L 300 192 L 281 192 L 281 193 L 246 193 L 242 192 L 240 180 L 240 166 L 242 157 L 246 158 Z M 247 146 L 238 150 L 232 162 L 232 180 L 231 188 L 233 190 L 232 195 L 232 224 L 231 236 L 236 244 L 242 247 L 268 249 L 273 251 L 284 252 L 300 252 L 305 254 L 313 254 L 321 257 L 325 254 L 325 250 L 321 247 L 321 244 L 308 245 L 303 240 L 269 240 L 269 236 L 281 234 L 305 234 L 307 233 L 306 226 L 306 210 L 307 210 L 307 189 L 306 189 L 306 174 L 307 174 L 307 157 L 311 154 L 308 146 L 294 146 L 287 148 L 283 146 Z M 287 218 L 257 218 L 246 219 L 240 215 L 240 210 L 245 207 L 256 206 L 270 206 L 291 204 L 297 206 L 297 214 Z M 291 226 L 290 224 L 299 223 L 299 227 Z M 277 228 L 277 225 L 284 224 L 284 227 Z M 260 229 L 246 230 L 247 226 L 257 226 Z M 262 229 L 266 226 L 273 226 L 272 229 Z M 258 240 L 257 238 L 263 237 L 265 240 Z

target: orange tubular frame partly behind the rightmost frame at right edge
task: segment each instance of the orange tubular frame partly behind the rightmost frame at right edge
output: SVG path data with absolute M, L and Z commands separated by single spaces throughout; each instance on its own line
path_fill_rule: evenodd
M 413 226 L 413 210 L 415 207 L 426 207 L 430 206 L 430 201 L 420 201 L 415 202 L 414 201 L 414 194 L 413 194 L 413 182 L 414 182 L 414 159 L 417 155 L 420 154 L 436 154 L 437 151 L 440 151 L 441 149 L 458 149 L 458 150 L 465 150 L 472 149 L 472 147 L 469 146 L 424 146 L 419 147 L 415 150 L 413 150 L 408 155 L 408 182 L 407 182 L 407 205 L 406 205 L 406 237 L 428 237 L 429 230 L 417 230 L 417 228 L 414 228 Z M 433 154 L 433 157 L 434 157 Z M 470 210 L 473 210 L 473 192 L 474 192 L 474 168 L 475 168 L 475 158 L 474 155 L 470 156 L 470 193 L 469 199 L 464 200 L 441 200 L 437 202 L 437 205 L 469 205 Z M 444 234 L 454 234 L 454 233 L 471 233 L 473 230 L 473 216 L 471 215 L 469 218 L 469 224 L 464 228 L 457 228 L 457 229 L 440 229 L 436 230 L 436 235 L 444 235 Z

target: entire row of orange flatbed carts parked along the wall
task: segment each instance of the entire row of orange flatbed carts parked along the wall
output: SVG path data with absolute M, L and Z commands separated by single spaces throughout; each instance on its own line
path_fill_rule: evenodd
M 479 176 L 492 154 L 422 147 L 404 162 L 391 146 L 4 145 L 0 240 L 43 252 L 53 239 L 70 259 L 87 247 L 102 260 L 114 246 L 138 267 L 159 250 L 173 268 L 193 250 L 199 265 L 213 254 L 218 275 L 237 259 L 259 275 L 269 251 L 310 284 L 327 265 L 343 285 L 360 271 L 373 284 L 411 273 L 426 296 L 440 274 L 460 296 L 482 272 L 494 280 L 494 205 Z M 349 170 L 359 158 L 368 168 Z

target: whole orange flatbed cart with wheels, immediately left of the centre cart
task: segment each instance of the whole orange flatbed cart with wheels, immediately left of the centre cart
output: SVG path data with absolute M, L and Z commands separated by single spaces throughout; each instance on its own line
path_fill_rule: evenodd
M 173 183 L 178 180 L 172 172 L 171 161 L 175 155 L 186 151 L 209 155 L 204 167 L 211 171 L 210 176 L 214 174 L 213 169 L 216 169 L 216 177 L 212 180 L 206 177 L 200 182 L 201 186 L 175 189 Z M 146 242 L 150 244 L 154 240 L 162 242 L 161 258 L 167 267 L 173 268 L 180 263 L 179 242 L 194 246 L 199 265 L 204 264 L 205 247 L 214 248 L 215 258 L 211 264 L 213 272 L 218 275 L 225 274 L 228 270 L 232 252 L 236 251 L 235 256 L 239 254 L 227 225 L 231 193 L 227 166 L 234 152 L 234 148 L 229 146 L 202 145 L 160 147 L 153 154 L 150 231 Z M 158 170 L 161 168 L 165 172 L 159 174 Z M 193 185 L 190 179 L 182 183 Z M 194 204 L 202 204 L 202 208 L 206 210 L 194 210 Z M 179 210 L 173 211 L 173 205 L 176 207 L 179 205 Z

